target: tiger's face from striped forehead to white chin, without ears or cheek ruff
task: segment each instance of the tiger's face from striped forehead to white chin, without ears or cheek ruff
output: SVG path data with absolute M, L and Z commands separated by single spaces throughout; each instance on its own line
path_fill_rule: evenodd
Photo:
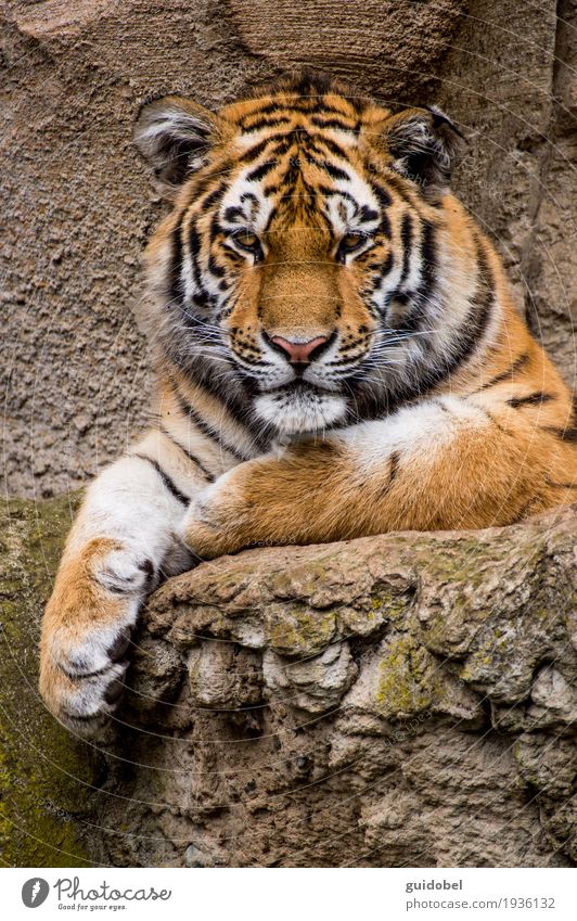
M 217 317 L 233 361 L 256 384 L 258 415 L 288 434 L 315 431 L 343 418 L 346 382 L 374 345 L 384 216 L 352 165 L 354 133 L 341 142 L 345 169 L 307 113 L 294 113 L 290 137 L 253 124 L 239 137 L 253 143 L 205 218 L 207 265 L 226 280 L 214 286 Z

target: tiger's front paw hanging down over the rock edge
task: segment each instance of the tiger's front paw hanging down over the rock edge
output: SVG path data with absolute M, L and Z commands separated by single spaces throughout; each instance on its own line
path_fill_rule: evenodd
M 104 729 L 124 691 L 140 604 L 151 590 L 150 561 L 107 539 L 64 562 L 42 624 L 40 693 L 75 731 Z

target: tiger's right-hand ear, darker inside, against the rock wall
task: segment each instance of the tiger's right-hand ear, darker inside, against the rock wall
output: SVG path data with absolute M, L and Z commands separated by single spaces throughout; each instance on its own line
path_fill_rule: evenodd
M 448 189 L 451 168 L 466 146 L 458 128 L 436 106 L 392 115 L 385 123 L 384 140 L 393 168 L 418 182 L 431 199 Z

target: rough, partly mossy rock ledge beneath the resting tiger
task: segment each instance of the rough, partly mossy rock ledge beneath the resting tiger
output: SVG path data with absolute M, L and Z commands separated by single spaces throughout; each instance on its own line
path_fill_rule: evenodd
M 5 862 L 576 861 L 577 507 L 204 563 L 150 600 L 94 745 L 36 690 L 75 504 L 2 521 Z

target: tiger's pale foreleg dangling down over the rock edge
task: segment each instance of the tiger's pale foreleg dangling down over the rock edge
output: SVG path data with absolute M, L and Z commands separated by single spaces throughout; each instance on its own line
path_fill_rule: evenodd
M 177 532 L 207 484 L 190 455 L 151 432 L 89 487 L 44 612 L 40 691 L 52 713 L 93 733 L 123 691 L 131 631 L 164 574 L 190 567 Z

